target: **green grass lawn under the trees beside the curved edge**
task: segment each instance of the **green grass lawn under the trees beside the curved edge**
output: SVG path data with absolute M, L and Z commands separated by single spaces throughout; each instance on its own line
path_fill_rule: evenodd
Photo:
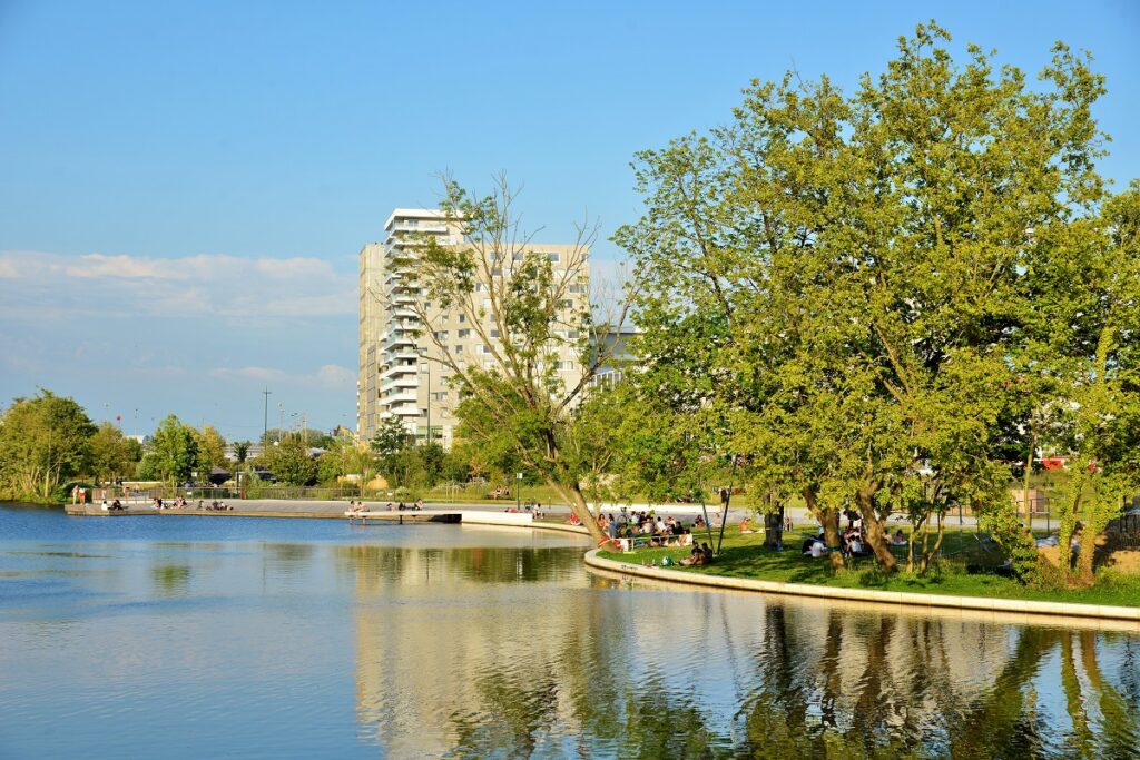
M 814 531 L 812 531 L 814 532 Z M 943 542 L 944 558 L 937 570 L 926 575 L 906 572 L 906 547 L 893 547 L 899 561 L 899 572 L 885 577 L 871 557 L 855 561 L 854 566 L 836 573 L 824 559 L 813 559 L 799 553 L 808 531 L 797 530 L 784 534 L 784 551 L 765 548 L 758 533 L 741 534 L 736 526 L 725 531 L 724 548 L 711 565 L 676 570 L 709 573 L 731 578 L 813 583 L 832 588 L 868 588 L 881 591 L 910 591 L 914 594 L 946 594 L 952 596 L 982 596 L 1002 599 L 1035 599 L 1075 604 L 1106 604 L 1140 606 L 1140 575 L 1123 575 L 1102 571 L 1100 581 L 1091 589 L 1031 588 L 994 572 L 999 557 L 985 549 L 972 530 L 947 529 Z M 714 531 L 716 537 L 716 531 Z M 701 533 L 698 540 L 707 541 Z M 933 541 L 931 541 L 933 544 Z M 715 546 L 715 544 L 714 544 Z M 690 549 L 641 549 L 637 551 L 602 551 L 598 556 L 630 564 L 661 564 L 666 556 L 674 562 L 687 556 Z M 968 570 L 972 566 L 972 572 Z

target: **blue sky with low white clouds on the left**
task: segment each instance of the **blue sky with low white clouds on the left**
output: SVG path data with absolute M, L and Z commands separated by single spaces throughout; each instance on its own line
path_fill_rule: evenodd
M 0 0 L 0 407 L 38 387 L 147 433 L 356 419 L 357 254 L 442 172 L 523 226 L 635 221 L 629 162 L 795 67 L 847 91 L 935 18 L 1035 74 L 1091 50 L 1140 175 L 1140 2 Z

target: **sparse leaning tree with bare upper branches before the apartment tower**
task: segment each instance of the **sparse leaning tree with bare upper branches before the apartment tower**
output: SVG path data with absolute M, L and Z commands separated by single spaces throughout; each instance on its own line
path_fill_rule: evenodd
M 483 197 L 453 181 L 445 193 L 443 221 L 463 243 L 422 236 L 413 251 L 414 280 L 404 283 L 426 293 L 413 307 L 431 346 L 425 359 L 442 366 L 464 399 L 461 435 L 479 447 L 508 446 L 601 539 L 581 491 L 584 473 L 565 456 L 576 434 L 573 410 L 609 359 L 609 328 L 601 325 L 621 325 L 625 316 L 616 307 L 617 318 L 594 321 L 600 304 L 589 297 L 588 251 L 595 229 L 579 226 L 555 267 L 520 229 L 505 178 Z M 462 313 L 482 340 L 480 363 L 454 353 L 443 337 L 442 317 L 451 312 Z M 581 369 L 569 383 L 561 371 L 565 362 Z

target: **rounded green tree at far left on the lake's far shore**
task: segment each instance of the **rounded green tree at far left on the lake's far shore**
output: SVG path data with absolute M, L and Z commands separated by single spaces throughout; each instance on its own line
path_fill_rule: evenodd
M 18 498 L 50 500 L 87 467 L 96 427 L 74 399 L 41 389 L 0 417 L 0 484 Z

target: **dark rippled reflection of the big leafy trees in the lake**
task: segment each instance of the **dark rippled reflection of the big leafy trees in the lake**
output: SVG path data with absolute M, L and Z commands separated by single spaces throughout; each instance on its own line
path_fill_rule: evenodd
M 803 638 L 806 628 L 795 622 L 779 605 L 765 611 L 756 688 L 736 716 L 739 757 L 1135 757 L 1137 700 L 1104 677 L 1094 631 L 1019 629 L 993 686 L 972 695 L 962 668 L 977 663 L 954 668 L 948 656 L 962 623 L 883 615 L 868 627 L 832 611 L 822 640 L 797 646 L 792 631 Z M 1126 646 L 1134 656 L 1134 639 Z M 1068 734 L 1036 698 L 1037 677 L 1056 677 L 1042 670 L 1056 652 Z

